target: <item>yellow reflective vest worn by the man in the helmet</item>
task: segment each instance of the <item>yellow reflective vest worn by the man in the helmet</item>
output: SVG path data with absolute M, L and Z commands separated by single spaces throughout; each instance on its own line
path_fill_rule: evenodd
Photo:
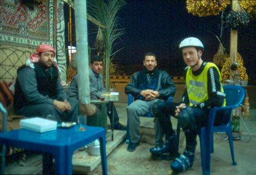
M 215 67 L 219 73 L 219 81 L 221 82 L 221 74 L 218 67 L 211 62 L 207 62 L 203 72 L 200 75 L 193 75 L 192 69 L 188 67 L 186 72 L 186 90 L 189 99 L 189 106 L 193 106 L 194 104 L 199 104 L 208 99 L 208 70 L 210 67 Z M 224 93 L 221 84 L 221 92 Z M 226 101 L 224 100 L 223 106 L 225 106 Z

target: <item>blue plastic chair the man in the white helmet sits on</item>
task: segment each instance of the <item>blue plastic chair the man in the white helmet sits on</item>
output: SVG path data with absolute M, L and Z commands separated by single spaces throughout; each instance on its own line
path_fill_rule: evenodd
M 237 163 L 234 161 L 233 136 L 230 117 L 233 108 L 240 106 L 240 104 L 243 102 L 245 98 L 245 90 L 242 88 L 242 86 L 238 85 L 225 85 L 223 86 L 223 89 L 224 93 L 226 94 L 226 106 L 212 107 L 209 112 L 209 121 L 207 127 L 202 127 L 200 130 L 201 163 L 203 174 L 210 174 L 211 153 L 214 152 L 214 132 L 225 132 L 228 135 L 232 165 L 237 165 Z M 228 123 L 214 126 L 217 111 L 224 110 L 228 110 L 229 112 Z

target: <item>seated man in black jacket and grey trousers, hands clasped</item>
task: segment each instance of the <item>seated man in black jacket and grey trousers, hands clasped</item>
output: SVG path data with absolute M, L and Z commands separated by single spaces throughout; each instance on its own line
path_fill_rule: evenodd
M 174 96 L 176 86 L 169 74 L 157 68 L 157 58 L 154 53 L 148 52 L 143 60 L 144 69 L 133 74 L 129 84 L 125 86 L 125 93 L 132 94 L 135 101 L 127 106 L 127 119 L 131 141 L 127 147 L 128 151 L 134 151 L 140 141 L 140 119 L 151 112 L 151 106 L 157 101 L 167 100 Z M 156 147 L 163 146 L 162 132 L 158 120 L 154 119 Z

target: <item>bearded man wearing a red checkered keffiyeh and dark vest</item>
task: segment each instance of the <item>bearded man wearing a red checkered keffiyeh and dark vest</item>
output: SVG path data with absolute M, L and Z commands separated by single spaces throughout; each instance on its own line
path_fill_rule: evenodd
M 16 114 L 26 117 L 53 115 L 58 122 L 76 121 L 78 101 L 69 99 L 60 83 L 54 48 L 42 44 L 17 70 L 14 93 Z

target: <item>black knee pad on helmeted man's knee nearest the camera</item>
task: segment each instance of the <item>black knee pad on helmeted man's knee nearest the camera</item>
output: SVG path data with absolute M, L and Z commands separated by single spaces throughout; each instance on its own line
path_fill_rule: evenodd
M 178 115 L 178 122 L 183 129 L 190 129 L 190 126 L 196 124 L 195 117 L 193 116 L 193 108 L 183 108 Z

